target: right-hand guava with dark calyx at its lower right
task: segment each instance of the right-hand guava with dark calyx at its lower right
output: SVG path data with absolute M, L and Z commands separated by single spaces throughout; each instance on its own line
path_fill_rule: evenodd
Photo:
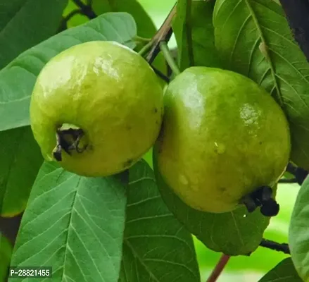
M 289 161 L 289 125 L 275 100 L 248 78 L 191 67 L 170 82 L 155 146 L 158 172 L 190 207 L 230 212 Z

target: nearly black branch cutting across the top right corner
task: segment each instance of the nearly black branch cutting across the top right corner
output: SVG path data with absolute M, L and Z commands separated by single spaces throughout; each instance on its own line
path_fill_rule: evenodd
M 309 1 L 279 0 L 296 42 L 309 61 Z

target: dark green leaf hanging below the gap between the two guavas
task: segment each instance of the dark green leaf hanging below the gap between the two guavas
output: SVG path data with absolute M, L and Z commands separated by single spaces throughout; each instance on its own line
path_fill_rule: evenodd
M 201 281 L 192 236 L 166 207 L 144 160 L 130 169 L 119 281 Z

